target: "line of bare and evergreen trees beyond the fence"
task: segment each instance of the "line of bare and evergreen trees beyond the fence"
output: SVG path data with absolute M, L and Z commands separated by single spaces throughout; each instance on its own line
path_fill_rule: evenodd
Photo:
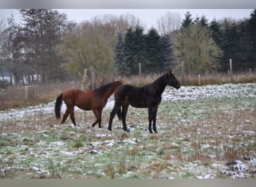
M 256 67 L 256 10 L 246 19 L 211 22 L 166 13 L 147 31 L 131 14 L 77 24 L 57 10 L 19 12 L 21 23 L 13 16 L 0 21 L 0 76 L 10 74 L 15 84 L 79 78 L 89 67 L 104 76 L 132 76 L 138 63 L 142 73 L 226 71 L 230 58 L 234 70 Z

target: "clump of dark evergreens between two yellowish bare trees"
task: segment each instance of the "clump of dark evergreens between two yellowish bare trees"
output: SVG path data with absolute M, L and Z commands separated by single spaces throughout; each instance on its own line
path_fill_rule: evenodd
M 169 37 L 161 37 L 155 28 L 150 28 L 147 34 L 140 27 L 129 28 L 124 40 L 118 36 L 115 63 L 118 73 L 126 76 L 138 74 L 138 63 L 143 73 L 165 72 L 171 64 Z

